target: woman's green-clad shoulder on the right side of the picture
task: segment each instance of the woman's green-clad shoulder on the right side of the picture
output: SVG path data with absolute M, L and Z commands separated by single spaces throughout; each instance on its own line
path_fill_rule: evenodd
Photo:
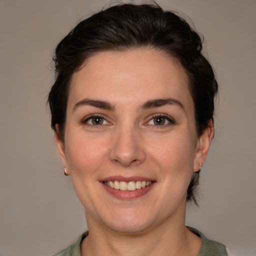
M 202 239 L 202 245 L 198 256 L 227 256 L 226 247 L 220 242 L 216 242 L 205 237 L 200 231 L 193 227 L 187 226 L 187 228 L 200 236 Z

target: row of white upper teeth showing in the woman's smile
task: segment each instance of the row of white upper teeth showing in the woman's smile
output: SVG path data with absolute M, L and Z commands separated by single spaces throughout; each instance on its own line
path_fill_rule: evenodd
M 114 181 L 103 181 L 103 183 L 114 189 L 133 191 L 135 189 L 140 189 L 145 186 L 151 185 L 152 181 L 137 180 L 137 181 L 125 182 L 125 181 L 114 180 Z

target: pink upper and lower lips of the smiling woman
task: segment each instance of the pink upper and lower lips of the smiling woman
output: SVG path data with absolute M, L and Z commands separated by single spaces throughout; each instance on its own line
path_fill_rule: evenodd
M 110 181 L 110 180 L 118 180 L 118 181 L 125 181 L 125 182 L 145 180 L 145 181 L 152 181 L 152 183 L 149 186 L 145 186 L 140 189 L 129 191 L 129 190 L 119 190 L 119 189 L 111 188 L 103 183 L 103 181 Z M 149 192 L 156 182 L 153 179 L 146 178 L 146 177 L 139 177 L 139 176 L 129 176 L 129 177 L 110 176 L 110 177 L 103 178 L 102 180 L 100 180 L 100 183 L 102 184 L 103 188 L 108 193 L 115 196 L 116 198 L 131 200 L 131 199 L 138 198 L 138 197 L 146 194 L 147 192 Z

